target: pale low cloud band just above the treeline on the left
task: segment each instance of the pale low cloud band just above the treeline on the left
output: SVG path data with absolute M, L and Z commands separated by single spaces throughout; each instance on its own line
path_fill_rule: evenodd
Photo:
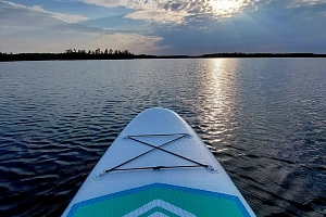
M 8 31 L 8 29 L 5 29 Z M 162 40 L 155 36 L 139 34 L 100 34 L 79 31 L 36 30 L 16 34 L 22 29 L 11 29 L 10 37 L 0 33 L 2 52 L 64 52 L 68 48 L 95 50 L 97 48 L 113 50 L 129 50 L 134 53 L 156 53 L 164 47 L 156 46 Z M 167 48 L 167 47 L 165 47 Z

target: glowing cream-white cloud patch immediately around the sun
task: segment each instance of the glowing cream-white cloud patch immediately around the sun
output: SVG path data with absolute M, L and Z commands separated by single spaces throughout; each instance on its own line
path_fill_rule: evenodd
M 189 17 L 229 17 L 254 7 L 258 0 L 80 0 L 106 8 L 134 10 L 125 17 L 156 23 L 187 24 Z

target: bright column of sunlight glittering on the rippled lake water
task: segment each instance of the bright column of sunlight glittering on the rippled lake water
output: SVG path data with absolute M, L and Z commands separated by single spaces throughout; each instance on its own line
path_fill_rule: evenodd
M 202 118 L 208 125 L 202 130 L 209 138 L 214 153 L 224 152 L 230 144 L 236 129 L 236 69 L 237 60 L 208 59 L 206 71 L 202 77 Z M 205 136 L 203 136 L 205 137 Z

